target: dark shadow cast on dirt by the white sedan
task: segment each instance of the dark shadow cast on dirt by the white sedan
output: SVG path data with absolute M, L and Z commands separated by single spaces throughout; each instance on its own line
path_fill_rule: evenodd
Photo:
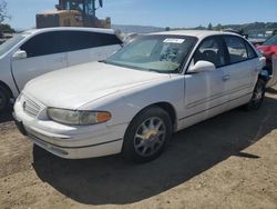
M 85 205 L 124 205 L 151 198 L 211 169 L 230 156 L 255 160 L 243 151 L 277 128 L 277 100 L 259 111 L 233 110 L 175 133 L 168 149 L 144 165 L 121 156 L 65 160 L 34 146 L 33 168 L 42 181 Z

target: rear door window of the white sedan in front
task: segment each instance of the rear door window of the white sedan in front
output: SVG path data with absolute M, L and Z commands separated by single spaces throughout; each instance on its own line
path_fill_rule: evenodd
M 227 50 L 229 52 L 230 63 L 237 63 L 248 59 L 248 50 L 245 40 L 239 37 L 224 37 Z M 249 46 L 248 46 L 249 47 Z M 253 52 L 250 52 L 253 53 Z M 254 54 L 249 54 L 254 56 Z

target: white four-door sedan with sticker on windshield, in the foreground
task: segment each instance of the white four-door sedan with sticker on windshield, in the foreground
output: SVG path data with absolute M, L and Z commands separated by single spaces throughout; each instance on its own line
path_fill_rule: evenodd
M 111 56 L 30 81 L 14 104 L 23 135 L 62 158 L 123 152 L 148 161 L 173 132 L 245 104 L 258 109 L 265 60 L 216 31 L 144 36 Z

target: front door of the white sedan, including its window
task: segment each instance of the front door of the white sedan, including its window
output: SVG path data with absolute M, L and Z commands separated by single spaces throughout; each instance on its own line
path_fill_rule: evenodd
M 216 70 L 189 73 L 197 61 L 209 61 Z M 205 39 L 195 51 L 191 67 L 185 74 L 184 127 L 194 125 L 226 110 L 228 96 L 225 92 L 225 53 L 219 38 Z

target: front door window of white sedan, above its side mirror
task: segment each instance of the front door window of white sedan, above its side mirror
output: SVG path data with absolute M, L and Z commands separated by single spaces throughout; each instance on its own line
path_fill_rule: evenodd
M 195 51 L 193 62 L 196 63 L 201 60 L 209 61 L 217 68 L 225 64 L 224 50 L 216 38 L 204 40 Z

